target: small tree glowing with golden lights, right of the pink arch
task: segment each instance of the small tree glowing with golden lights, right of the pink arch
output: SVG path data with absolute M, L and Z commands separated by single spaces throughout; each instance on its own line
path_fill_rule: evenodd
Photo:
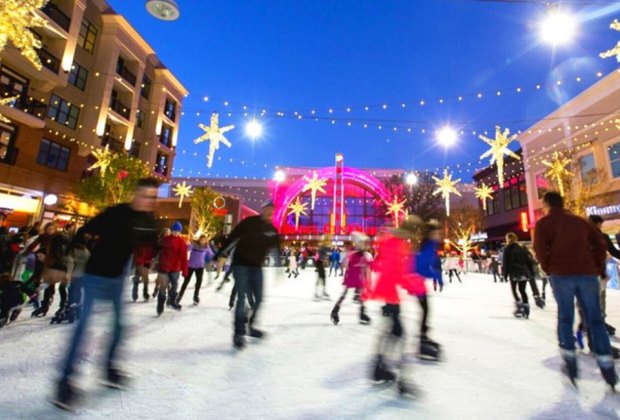
M 484 214 L 482 210 L 469 203 L 458 204 L 447 219 L 448 240 L 463 255 L 473 248 L 471 235 L 482 230 Z

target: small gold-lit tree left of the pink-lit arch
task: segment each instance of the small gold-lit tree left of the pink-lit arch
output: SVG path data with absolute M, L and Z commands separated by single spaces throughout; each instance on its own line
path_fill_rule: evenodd
M 221 196 L 208 187 L 194 189 L 190 231 L 196 236 L 213 238 L 222 231 L 224 218 L 218 214 L 216 200 Z

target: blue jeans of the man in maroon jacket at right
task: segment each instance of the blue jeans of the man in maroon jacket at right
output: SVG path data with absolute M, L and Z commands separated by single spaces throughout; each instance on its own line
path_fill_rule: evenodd
M 599 356 L 611 355 L 611 343 L 605 329 L 599 296 L 599 280 L 594 275 L 551 276 L 553 294 L 558 303 L 560 348 L 575 351 L 573 323 L 575 298 L 581 305 L 586 325 L 592 334 L 592 350 Z

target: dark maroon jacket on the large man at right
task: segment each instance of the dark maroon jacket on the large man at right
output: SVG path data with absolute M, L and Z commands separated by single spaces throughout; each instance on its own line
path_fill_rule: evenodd
M 606 246 L 585 219 L 564 209 L 553 209 L 536 223 L 534 251 L 549 275 L 604 275 Z

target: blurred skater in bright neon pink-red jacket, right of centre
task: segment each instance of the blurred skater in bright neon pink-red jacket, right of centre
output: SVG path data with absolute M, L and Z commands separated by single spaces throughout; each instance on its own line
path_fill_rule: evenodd
M 409 216 L 399 228 L 388 228 L 380 233 L 377 241 L 378 254 L 373 264 L 377 277 L 374 282 L 367 283 L 363 293 L 364 299 L 384 303 L 384 329 L 379 336 L 371 377 L 375 382 L 397 381 L 401 395 L 411 395 L 413 389 L 405 377 L 406 338 L 400 319 L 399 289 L 405 289 L 410 294 L 425 292 L 424 279 L 410 271 L 414 262 L 411 259 L 409 240 L 417 226 L 416 220 Z

